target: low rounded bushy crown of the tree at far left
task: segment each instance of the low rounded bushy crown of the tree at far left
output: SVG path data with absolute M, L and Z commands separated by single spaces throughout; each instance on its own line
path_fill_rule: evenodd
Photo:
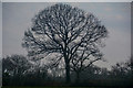
M 30 68 L 31 63 L 22 55 L 11 55 L 2 58 L 2 70 L 10 75 L 22 75 Z

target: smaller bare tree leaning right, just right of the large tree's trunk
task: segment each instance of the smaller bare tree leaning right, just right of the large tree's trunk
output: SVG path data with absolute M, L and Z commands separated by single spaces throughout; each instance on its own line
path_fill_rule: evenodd
M 81 72 L 84 72 L 96 61 L 102 61 L 102 56 L 103 54 L 99 51 L 98 47 L 94 47 L 93 45 L 84 46 L 81 47 L 81 50 L 78 50 L 75 55 L 73 55 L 72 61 L 70 62 L 71 70 L 75 72 L 76 74 L 75 81 L 80 81 Z

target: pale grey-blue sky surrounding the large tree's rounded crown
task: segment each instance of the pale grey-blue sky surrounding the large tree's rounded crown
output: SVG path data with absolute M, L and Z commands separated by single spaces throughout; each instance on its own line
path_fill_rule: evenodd
M 3 56 L 11 54 L 27 55 L 21 47 L 24 31 L 31 26 L 31 19 L 40 10 L 53 3 L 2 3 L 3 23 Z M 98 16 L 106 26 L 110 34 L 102 48 L 108 63 L 96 63 L 101 66 L 114 65 L 124 62 L 131 55 L 131 7 L 130 2 L 117 3 L 69 3 Z

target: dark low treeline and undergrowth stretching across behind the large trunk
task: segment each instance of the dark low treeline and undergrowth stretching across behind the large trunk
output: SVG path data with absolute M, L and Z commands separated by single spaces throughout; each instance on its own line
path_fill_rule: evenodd
M 32 63 L 22 55 L 2 58 L 2 86 L 98 86 L 131 87 L 133 82 L 132 58 L 117 63 L 111 70 L 91 65 L 80 74 L 71 73 L 71 82 L 65 84 L 64 69 L 50 68 L 40 63 Z

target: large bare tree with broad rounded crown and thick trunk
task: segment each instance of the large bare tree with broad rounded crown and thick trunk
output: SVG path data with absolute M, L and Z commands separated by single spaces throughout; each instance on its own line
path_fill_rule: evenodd
M 59 54 L 55 63 L 64 61 L 66 82 L 71 81 L 70 62 L 76 51 L 90 51 L 90 45 L 96 46 L 98 41 L 108 34 L 92 13 L 69 4 L 48 7 L 32 21 L 33 25 L 24 33 L 23 47 L 28 48 L 29 56 Z

